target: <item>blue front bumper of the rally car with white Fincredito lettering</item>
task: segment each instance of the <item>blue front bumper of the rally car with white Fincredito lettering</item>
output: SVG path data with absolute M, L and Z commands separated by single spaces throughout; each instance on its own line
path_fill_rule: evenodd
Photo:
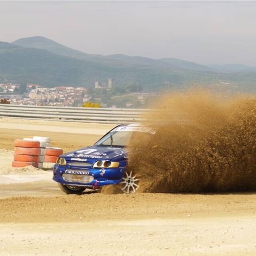
M 80 183 L 77 182 L 68 182 L 63 177 L 62 174 L 70 173 L 70 169 L 72 169 L 73 174 L 86 174 L 93 176 L 93 180 L 89 183 Z M 118 184 L 122 181 L 125 167 L 118 168 L 78 168 L 78 167 L 68 167 L 60 164 L 55 164 L 53 167 L 53 180 L 59 183 L 73 185 L 73 186 L 86 186 L 86 187 L 94 187 L 94 186 L 105 186 L 111 184 Z M 73 172 L 74 171 L 74 172 Z

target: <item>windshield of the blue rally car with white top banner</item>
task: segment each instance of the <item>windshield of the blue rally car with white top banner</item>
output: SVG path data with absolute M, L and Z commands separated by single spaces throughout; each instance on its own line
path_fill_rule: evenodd
M 126 128 L 126 126 L 115 128 L 96 142 L 95 146 L 101 147 L 119 147 L 123 148 L 128 146 L 130 140 L 136 140 L 138 136 L 151 136 L 152 134 L 144 130 Z

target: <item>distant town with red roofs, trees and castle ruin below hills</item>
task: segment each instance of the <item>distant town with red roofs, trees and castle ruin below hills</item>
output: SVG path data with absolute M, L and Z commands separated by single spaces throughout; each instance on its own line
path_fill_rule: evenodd
M 108 84 L 96 81 L 94 89 L 6 82 L 0 84 L 0 98 L 17 105 L 86 106 L 86 102 L 97 102 L 100 107 L 144 108 L 153 94 L 141 90 L 142 87 L 136 84 L 130 84 L 127 90 L 113 88 L 113 78 L 108 79 Z

